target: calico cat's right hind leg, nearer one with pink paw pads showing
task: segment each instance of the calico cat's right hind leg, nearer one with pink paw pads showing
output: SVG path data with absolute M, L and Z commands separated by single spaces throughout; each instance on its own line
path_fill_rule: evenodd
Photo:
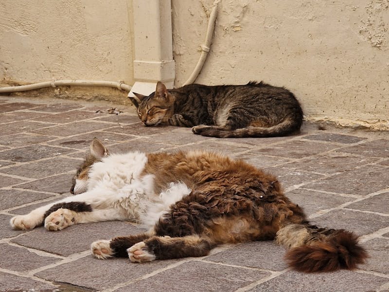
M 216 247 L 209 237 L 190 235 L 185 237 L 154 236 L 138 242 L 128 249 L 132 262 L 145 262 L 155 259 L 206 256 Z

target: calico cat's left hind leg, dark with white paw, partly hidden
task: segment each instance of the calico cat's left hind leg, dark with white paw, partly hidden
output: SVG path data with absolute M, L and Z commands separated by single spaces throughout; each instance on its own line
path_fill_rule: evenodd
M 90 245 L 93 256 L 100 259 L 108 257 L 127 257 L 128 248 L 138 242 L 142 242 L 154 235 L 152 232 L 130 235 L 126 237 L 114 237 L 111 240 L 98 240 Z

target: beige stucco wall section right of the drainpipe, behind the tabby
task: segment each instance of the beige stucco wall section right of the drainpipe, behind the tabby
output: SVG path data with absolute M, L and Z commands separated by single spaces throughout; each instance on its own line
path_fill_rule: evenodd
M 176 86 L 192 72 L 213 0 L 173 0 Z M 197 83 L 264 80 L 311 117 L 388 125 L 389 0 L 222 0 Z

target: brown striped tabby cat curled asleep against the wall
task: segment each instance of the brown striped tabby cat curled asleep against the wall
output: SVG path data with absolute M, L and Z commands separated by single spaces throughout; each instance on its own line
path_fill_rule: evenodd
M 263 82 L 246 85 L 190 84 L 167 90 L 161 82 L 149 96 L 130 97 L 145 126 L 193 127 L 218 138 L 274 137 L 298 131 L 302 110 L 292 92 Z

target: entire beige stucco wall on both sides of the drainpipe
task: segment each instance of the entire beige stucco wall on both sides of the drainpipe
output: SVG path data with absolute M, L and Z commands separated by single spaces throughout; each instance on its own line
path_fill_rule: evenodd
M 176 87 L 195 68 L 213 1 L 171 1 Z M 0 1 L 0 85 L 53 78 L 132 85 L 132 9 L 132 0 Z M 389 0 L 221 0 L 196 82 L 264 80 L 293 91 L 308 119 L 389 127 L 388 28 Z M 55 89 L 65 97 L 80 91 L 126 94 Z

